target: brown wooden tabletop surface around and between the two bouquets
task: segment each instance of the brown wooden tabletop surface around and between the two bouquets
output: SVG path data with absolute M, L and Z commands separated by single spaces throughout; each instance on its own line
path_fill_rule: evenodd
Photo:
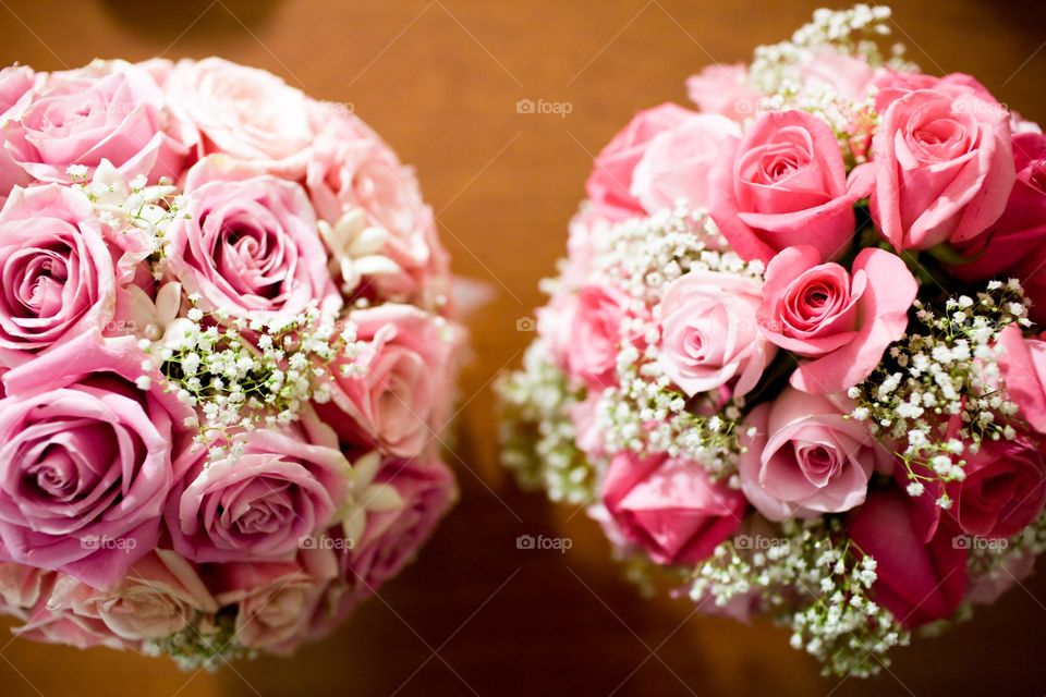
M 0 0 L 0 63 L 212 53 L 350 102 L 417 166 L 457 271 L 496 298 L 471 320 L 477 358 L 459 419 L 462 503 L 418 562 L 294 660 L 217 674 L 0 635 L 0 695 L 1006 695 L 1046 694 L 1046 574 L 876 681 L 823 680 L 787 634 L 641 600 L 583 514 L 498 473 L 488 382 L 561 254 L 592 155 L 683 80 L 786 38 L 820 2 L 714 0 Z M 841 7 L 841 5 L 840 5 Z M 895 4 L 895 34 L 934 73 L 975 73 L 1046 122 L 1041 0 Z M 518 114 L 519 99 L 572 112 Z M 567 554 L 520 534 L 567 535 Z M 1041 564 L 1042 566 L 1042 564 Z M 0 625 L 2 626 L 2 625 Z

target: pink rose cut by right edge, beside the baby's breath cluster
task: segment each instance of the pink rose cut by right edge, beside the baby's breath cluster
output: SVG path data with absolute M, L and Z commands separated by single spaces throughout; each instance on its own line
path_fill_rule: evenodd
M 1029 426 L 1046 435 L 1046 341 L 1025 339 L 1019 326 L 1010 325 L 999 333 L 998 343 L 1007 396 Z

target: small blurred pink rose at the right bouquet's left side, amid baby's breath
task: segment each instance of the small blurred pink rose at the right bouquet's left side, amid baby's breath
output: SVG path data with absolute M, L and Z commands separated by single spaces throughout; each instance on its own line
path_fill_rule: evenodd
M 630 316 L 631 298 L 611 285 L 585 285 L 573 301 L 567 332 L 567 372 L 593 390 L 617 382 L 621 330 Z M 544 317 L 543 317 L 544 319 Z M 560 321 L 567 317 L 560 318 Z

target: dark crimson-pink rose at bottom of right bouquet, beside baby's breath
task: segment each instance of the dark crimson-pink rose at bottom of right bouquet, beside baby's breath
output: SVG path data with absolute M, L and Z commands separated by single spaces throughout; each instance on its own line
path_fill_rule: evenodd
M 873 491 L 850 515 L 848 529 L 876 562 L 875 601 L 911 629 L 954 614 L 966 591 L 966 550 L 944 529 L 926 542 L 910 506 L 898 489 Z

